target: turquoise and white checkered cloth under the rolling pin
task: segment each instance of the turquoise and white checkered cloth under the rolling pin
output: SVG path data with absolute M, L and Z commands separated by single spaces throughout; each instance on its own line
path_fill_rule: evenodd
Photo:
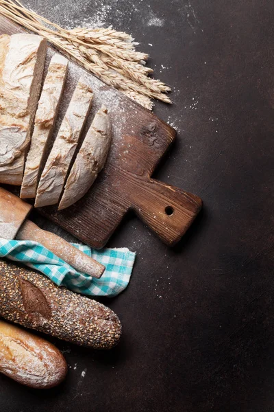
M 44 273 L 58 286 L 66 286 L 83 295 L 116 296 L 127 287 L 136 253 L 126 248 L 95 251 L 82 244 L 73 246 L 105 266 L 101 279 L 77 272 L 37 242 L 0 238 L 0 258 L 23 262 Z

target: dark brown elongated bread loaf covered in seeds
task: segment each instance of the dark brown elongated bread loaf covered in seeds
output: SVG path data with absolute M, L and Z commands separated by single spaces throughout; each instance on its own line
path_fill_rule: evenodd
M 121 323 L 97 301 L 58 288 L 47 277 L 0 260 L 0 316 L 77 345 L 110 349 Z

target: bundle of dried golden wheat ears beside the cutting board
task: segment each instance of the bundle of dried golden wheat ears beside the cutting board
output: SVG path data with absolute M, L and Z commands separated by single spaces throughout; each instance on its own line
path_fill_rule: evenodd
M 71 60 L 149 110 L 151 98 L 171 103 L 166 95 L 170 87 L 149 76 L 153 73 L 145 66 L 149 56 L 136 51 L 138 43 L 129 34 L 110 27 L 66 30 L 27 10 L 18 0 L 0 0 L 0 13 L 44 36 Z

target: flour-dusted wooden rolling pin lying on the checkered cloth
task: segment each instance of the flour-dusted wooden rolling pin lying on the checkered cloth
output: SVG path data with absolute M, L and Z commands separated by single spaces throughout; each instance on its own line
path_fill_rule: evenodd
M 32 205 L 0 187 L 0 238 L 34 240 L 77 271 L 97 278 L 103 275 L 105 266 L 79 251 L 60 236 L 42 230 L 34 222 L 27 220 L 31 210 Z

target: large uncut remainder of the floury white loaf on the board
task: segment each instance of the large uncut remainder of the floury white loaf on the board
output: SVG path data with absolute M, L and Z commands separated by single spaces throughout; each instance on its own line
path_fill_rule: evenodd
M 0 183 L 21 185 L 47 41 L 36 34 L 3 35 L 0 49 Z

